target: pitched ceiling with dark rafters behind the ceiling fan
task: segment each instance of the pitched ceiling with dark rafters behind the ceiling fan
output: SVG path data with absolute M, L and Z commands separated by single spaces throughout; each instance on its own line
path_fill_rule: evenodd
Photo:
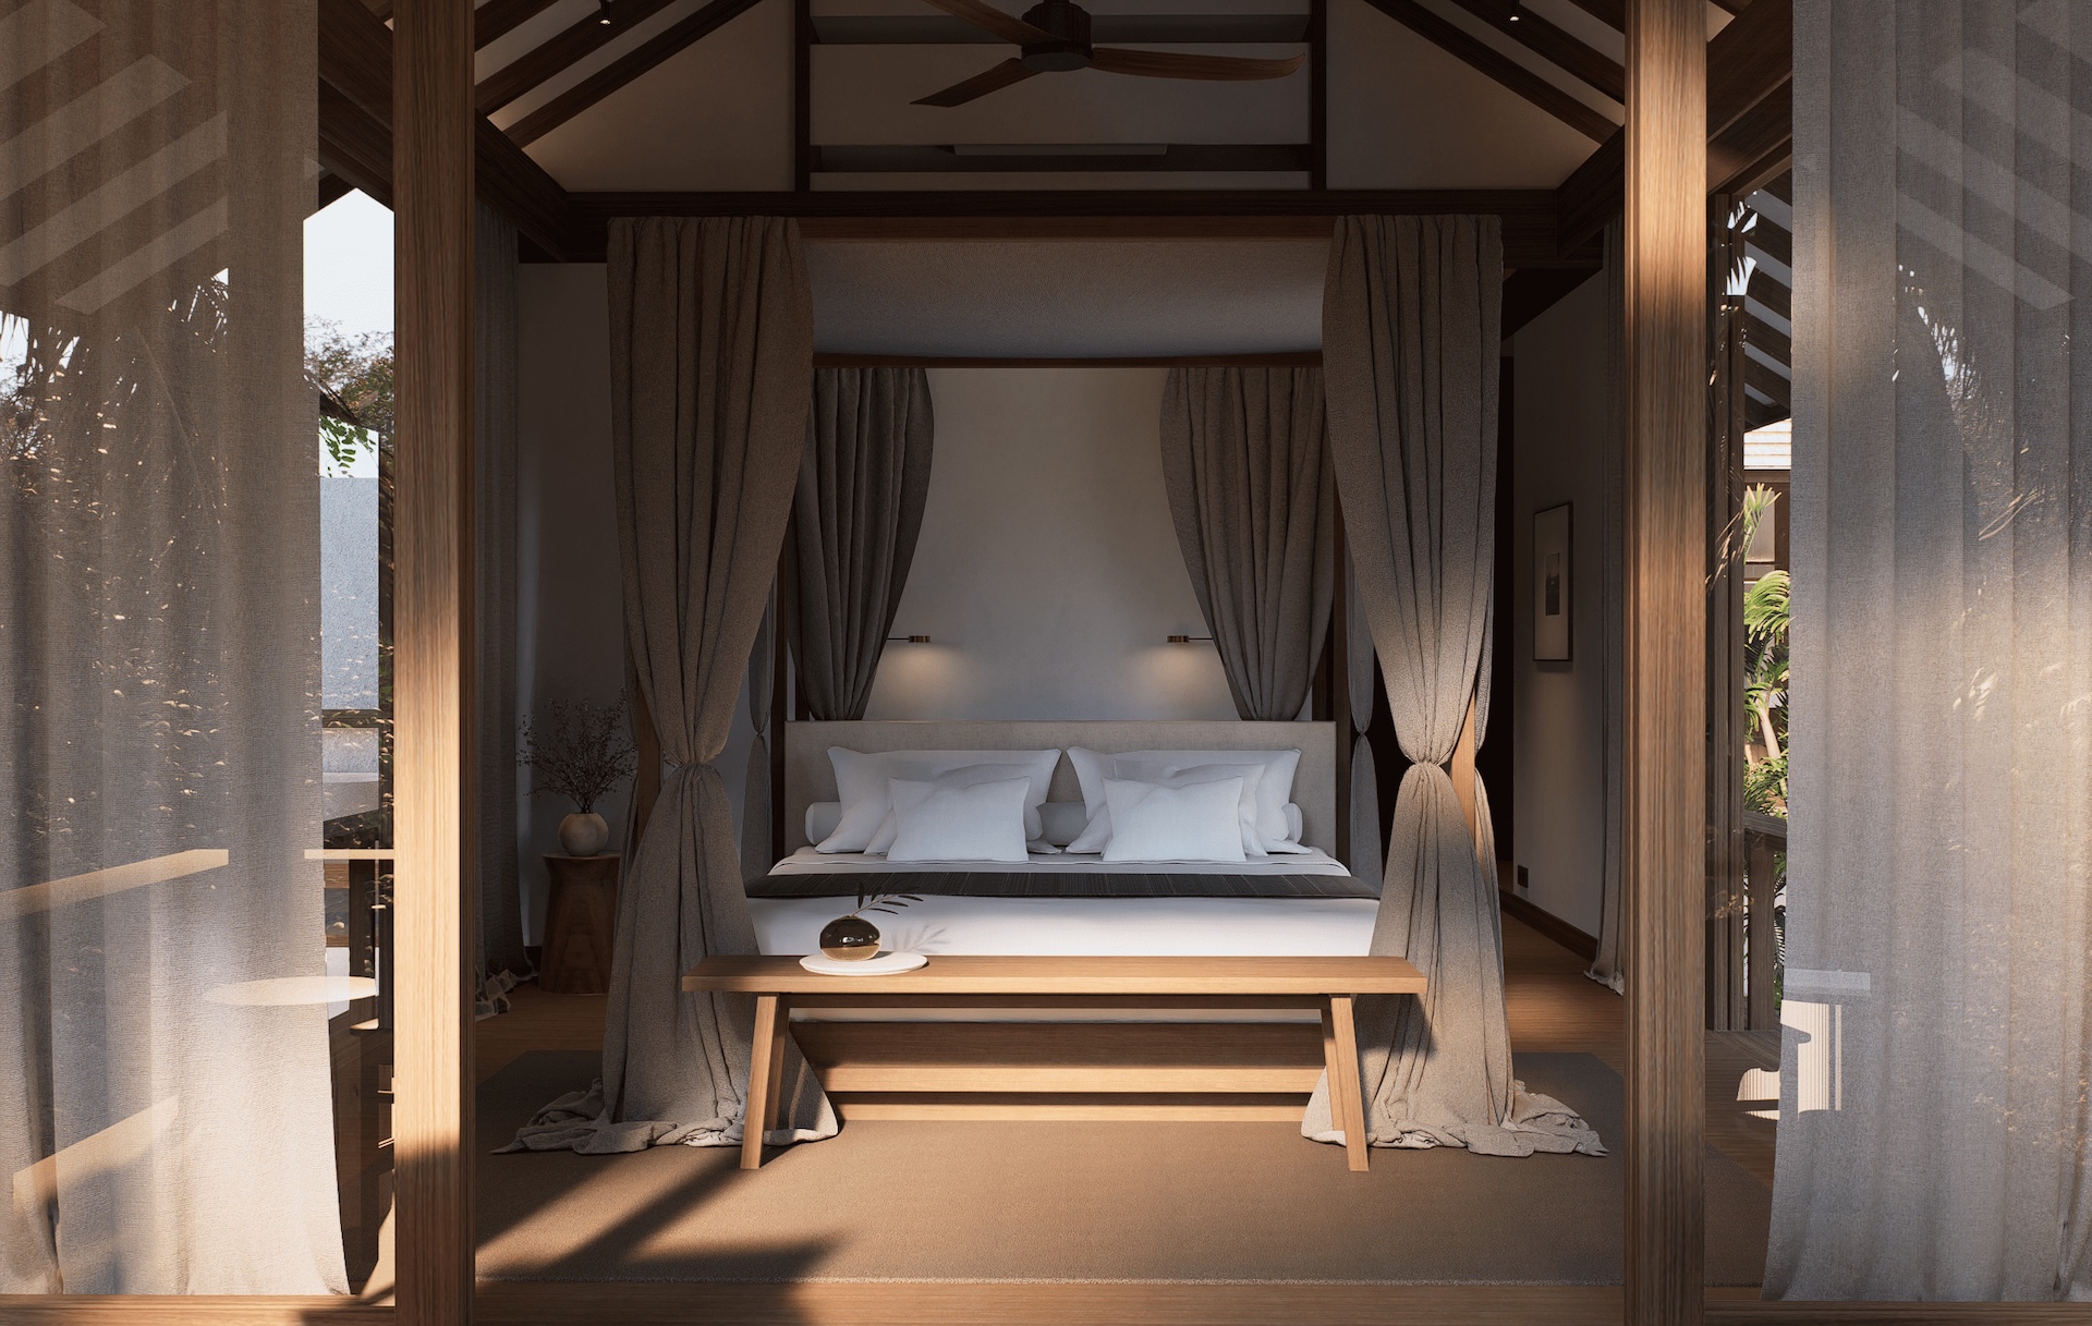
M 1002 8 L 1017 13 L 1023 2 L 1002 0 Z M 1726 0 L 1734 8 L 1745 2 Z M 1621 0 L 1326 6 L 1331 188 L 1550 188 L 1621 119 Z M 1310 36 L 1312 0 L 1094 0 L 1086 8 L 1107 29 L 1125 29 L 1111 38 L 1123 44 L 1236 56 L 1310 52 L 1299 38 Z M 483 0 L 477 13 L 481 111 L 563 186 L 793 186 L 793 0 Z M 1724 17 L 1724 6 L 1709 4 L 1711 27 Z M 831 157 L 814 167 L 816 188 L 1312 182 L 1310 69 L 1264 84 L 1075 71 L 933 109 L 908 102 L 979 73 L 1008 48 L 923 0 L 812 0 L 805 36 L 810 142 L 816 159 L 820 148 Z M 1165 42 L 1186 36 L 1201 40 Z M 1209 161 L 1209 151 L 1109 169 L 1082 159 L 1082 146 L 1128 142 L 1299 146 L 1291 157 L 1264 148 Z M 1071 159 L 1056 169 L 983 176 L 996 163 L 954 161 L 952 144 L 1069 144 Z M 858 151 L 872 146 L 935 157 L 918 163 L 906 153 Z M 1213 163 L 1222 169 L 1209 169 Z M 1082 180 L 1065 178 L 1077 169 Z

